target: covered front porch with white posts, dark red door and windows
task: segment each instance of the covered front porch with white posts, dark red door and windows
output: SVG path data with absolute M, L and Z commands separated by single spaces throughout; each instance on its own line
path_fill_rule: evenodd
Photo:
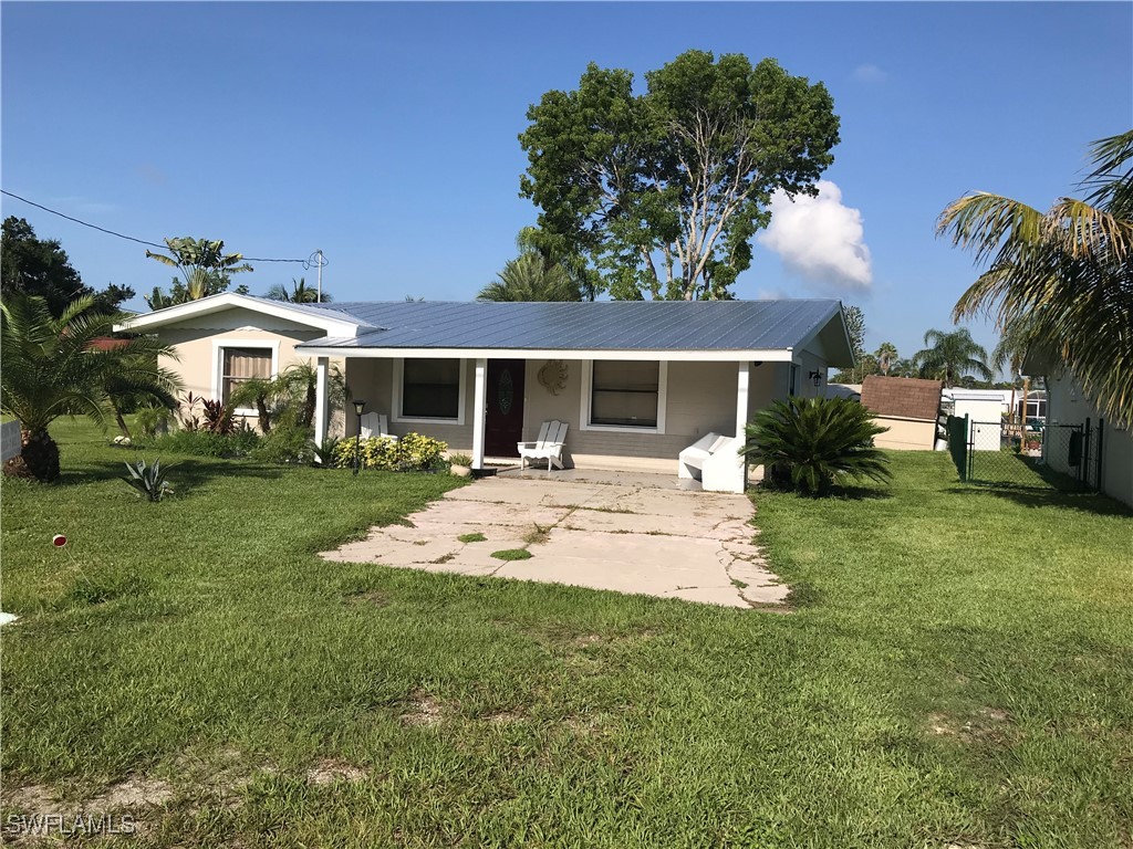
M 427 353 L 421 351 L 415 354 Z M 516 458 L 517 444 L 534 441 L 544 421 L 569 428 L 569 470 L 662 474 L 676 479 L 678 455 L 708 434 L 741 436 L 744 424 L 774 397 L 807 394 L 806 366 L 790 352 L 778 361 L 729 361 L 685 352 L 684 359 L 444 358 L 348 355 L 343 371 L 366 410 L 385 413 L 390 432 L 425 434 L 472 458 Z M 326 372 L 317 358 L 316 439 L 330 429 Z M 356 431 L 353 415 L 341 435 Z M 546 475 L 546 471 L 542 472 Z M 554 474 L 561 475 L 556 471 Z M 739 460 L 724 491 L 743 491 Z M 675 483 L 674 483 L 675 486 Z

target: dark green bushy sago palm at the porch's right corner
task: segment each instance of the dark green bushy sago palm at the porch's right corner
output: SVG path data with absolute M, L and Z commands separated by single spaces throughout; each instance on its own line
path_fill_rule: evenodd
M 740 453 L 763 463 L 768 480 L 815 496 L 844 478 L 885 482 L 893 474 L 874 437 L 885 431 L 870 412 L 846 398 L 775 401 L 747 427 Z

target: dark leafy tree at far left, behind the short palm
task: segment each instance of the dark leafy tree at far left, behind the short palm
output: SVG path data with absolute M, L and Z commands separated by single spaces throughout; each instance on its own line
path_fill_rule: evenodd
M 0 297 L 20 293 L 43 298 L 57 318 L 76 298 L 94 298 L 93 310 L 112 314 L 134 297 L 133 289 L 113 283 L 95 292 L 83 283 L 58 239 L 39 239 L 25 218 L 9 216 L 0 231 Z

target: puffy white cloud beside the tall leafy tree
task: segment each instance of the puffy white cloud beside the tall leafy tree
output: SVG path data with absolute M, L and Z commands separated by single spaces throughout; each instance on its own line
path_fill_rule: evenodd
M 818 181 L 818 197 L 772 195 L 772 223 L 759 243 L 790 271 L 828 292 L 866 292 L 874 282 L 861 212 L 842 204 L 842 190 Z

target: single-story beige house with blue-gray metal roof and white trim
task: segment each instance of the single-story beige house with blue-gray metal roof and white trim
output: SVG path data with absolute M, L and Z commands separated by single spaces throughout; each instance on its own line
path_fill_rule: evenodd
M 180 359 L 162 365 L 213 398 L 314 361 L 316 440 L 357 430 L 352 413 L 327 410 L 337 362 L 393 435 L 443 439 L 474 468 L 560 420 L 569 463 L 672 472 L 692 443 L 742 437 L 772 400 L 820 395 L 827 367 L 853 362 L 834 300 L 297 305 L 225 292 L 120 329 L 174 345 Z

